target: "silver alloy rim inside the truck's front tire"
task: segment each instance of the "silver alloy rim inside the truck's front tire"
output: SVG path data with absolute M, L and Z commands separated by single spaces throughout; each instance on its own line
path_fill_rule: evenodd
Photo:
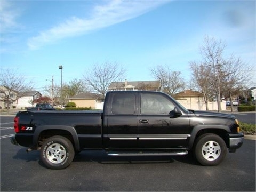
M 207 141 L 202 147 L 202 155 L 207 161 L 216 160 L 221 154 L 221 148 L 216 141 Z

